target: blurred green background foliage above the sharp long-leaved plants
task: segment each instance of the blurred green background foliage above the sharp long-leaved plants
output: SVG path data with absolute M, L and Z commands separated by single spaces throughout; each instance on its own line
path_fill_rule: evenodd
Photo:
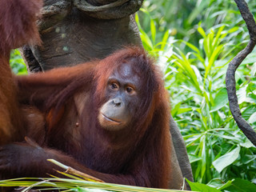
M 254 12 L 256 2 L 253 0 L 246 2 Z M 230 28 L 245 26 L 234 0 L 147 0 L 143 3 L 143 9 L 150 14 L 150 17 L 138 12 L 142 28 L 146 34 L 151 35 L 150 26 L 153 20 L 154 26 L 158 29 L 155 38 L 157 42 L 162 41 L 163 34 L 168 30 L 176 39 L 183 39 L 198 46 L 199 22 L 206 30 L 222 23 L 229 25 Z M 247 34 L 237 33 L 237 37 L 231 38 L 230 41 L 235 42 L 235 45 L 243 35 Z

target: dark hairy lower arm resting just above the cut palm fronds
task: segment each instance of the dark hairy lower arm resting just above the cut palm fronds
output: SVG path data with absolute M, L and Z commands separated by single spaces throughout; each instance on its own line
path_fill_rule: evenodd
M 48 162 L 47 159 L 53 158 L 62 162 L 66 166 L 71 166 L 83 173 L 90 174 L 100 178 L 105 182 L 114 182 L 120 184 L 146 186 L 146 178 L 143 181 L 143 175 L 114 175 L 104 174 L 95 170 L 90 170 L 79 164 L 74 158 L 62 154 L 58 150 L 50 150 L 37 145 L 28 143 L 15 143 L 0 147 L 0 179 L 17 177 L 48 177 L 53 174 L 63 177 L 55 170 L 60 170 L 58 166 Z M 18 161 L 17 161 L 18 159 Z M 138 171 L 138 173 L 141 173 Z M 138 183 L 138 181 L 140 183 Z

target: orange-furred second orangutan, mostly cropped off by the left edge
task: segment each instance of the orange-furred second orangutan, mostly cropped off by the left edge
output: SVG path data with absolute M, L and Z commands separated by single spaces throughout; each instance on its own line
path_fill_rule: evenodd
M 42 1 L 36 0 L 0 1 L 0 144 L 21 140 L 25 129 L 9 66 L 10 49 L 39 42 L 35 21 L 41 7 Z

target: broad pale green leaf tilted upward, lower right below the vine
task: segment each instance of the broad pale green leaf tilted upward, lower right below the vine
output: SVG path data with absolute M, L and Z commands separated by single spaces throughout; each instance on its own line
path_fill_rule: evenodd
M 231 150 L 229 153 L 222 155 L 220 158 L 217 158 L 213 162 L 213 166 L 218 173 L 222 172 L 226 166 L 230 166 L 238 157 L 240 152 L 240 146 L 236 147 L 234 150 Z

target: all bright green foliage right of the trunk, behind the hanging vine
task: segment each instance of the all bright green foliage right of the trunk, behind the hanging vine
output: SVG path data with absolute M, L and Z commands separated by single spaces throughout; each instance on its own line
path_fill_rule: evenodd
M 161 2 L 168 3 L 166 1 L 158 3 Z M 178 1 L 174 2 L 178 3 Z M 179 2 L 190 4 L 190 2 L 201 1 Z M 197 27 L 197 32 L 193 32 L 194 36 L 188 34 L 182 36 L 179 30 L 174 35 L 170 30 L 158 33 L 158 30 L 162 30 L 161 22 L 150 13 L 150 11 L 154 13 L 154 10 L 150 10 L 153 4 L 147 4 L 144 7 L 145 10 L 142 10 L 144 17 L 140 13 L 138 14 L 140 19 L 137 18 L 137 22 L 142 22 L 139 26 L 142 43 L 150 53 L 158 58 L 160 66 L 167 64 L 165 78 L 166 88 L 170 92 L 171 114 L 178 122 L 186 141 L 194 180 L 208 183 L 208 185 L 214 183 L 215 187 L 222 186 L 225 182 L 229 183 L 229 180 L 231 183 L 234 178 L 256 182 L 254 174 L 256 148 L 234 122 L 230 114 L 225 86 L 227 64 L 245 46 L 248 33 L 233 1 L 201 3 L 200 6 L 205 6 L 207 9 L 196 12 L 198 15 L 194 21 L 197 18 L 201 20 L 198 24 L 186 26 L 187 31 L 192 29 L 194 31 Z M 226 6 L 222 7 L 223 5 Z M 250 6 L 252 5 L 254 2 L 251 2 Z M 170 6 L 161 7 L 162 10 L 170 8 Z M 215 14 L 211 12 L 216 10 L 220 12 L 215 12 Z M 202 13 L 205 11 L 208 12 L 208 16 L 212 14 L 212 17 L 204 17 Z M 182 14 L 188 12 L 189 10 L 181 11 Z M 163 14 L 162 20 L 164 19 L 169 18 Z M 150 28 L 146 26 L 146 20 L 150 20 Z M 152 22 L 154 25 L 151 24 Z M 207 26 L 209 23 L 212 26 Z M 154 26 L 153 32 L 152 26 Z M 159 35 L 161 33 L 162 36 Z M 143 38 L 145 34 L 147 37 Z M 158 38 L 153 38 L 154 34 L 158 34 Z M 238 102 L 242 109 L 242 116 L 254 128 L 256 126 L 255 56 L 255 54 L 250 54 L 236 73 Z M 233 187 L 226 191 L 237 190 Z M 251 190 L 245 189 L 245 191 Z

